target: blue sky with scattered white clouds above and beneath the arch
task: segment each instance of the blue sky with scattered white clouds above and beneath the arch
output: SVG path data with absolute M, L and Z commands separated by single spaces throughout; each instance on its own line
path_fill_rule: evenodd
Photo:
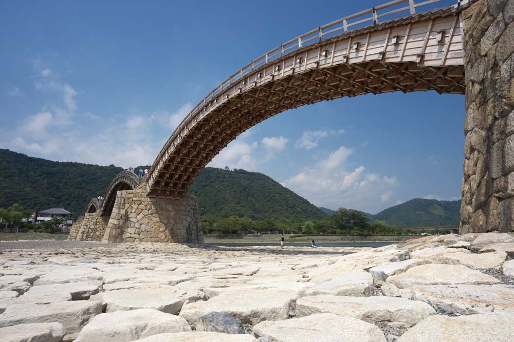
M 0 148 L 151 164 L 181 118 L 238 68 L 380 3 L 2 2 Z M 342 98 L 266 120 L 210 166 L 263 172 L 332 209 L 458 199 L 464 116 L 462 95 Z

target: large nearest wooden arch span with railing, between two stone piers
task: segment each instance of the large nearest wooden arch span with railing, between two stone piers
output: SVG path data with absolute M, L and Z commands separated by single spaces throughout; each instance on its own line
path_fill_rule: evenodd
M 291 108 L 367 93 L 464 94 L 461 1 L 416 13 L 417 7 L 437 1 L 395 0 L 311 30 L 256 58 L 183 119 L 153 163 L 147 195 L 182 198 L 198 172 L 237 135 Z M 372 25 L 350 30 L 368 22 Z

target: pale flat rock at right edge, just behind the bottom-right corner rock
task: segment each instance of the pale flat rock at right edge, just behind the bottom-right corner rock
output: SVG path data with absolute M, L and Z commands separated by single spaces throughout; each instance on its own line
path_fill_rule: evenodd
M 514 314 L 514 286 L 438 285 L 414 287 L 411 291 L 412 299 L 423 300 L 449 313 Z

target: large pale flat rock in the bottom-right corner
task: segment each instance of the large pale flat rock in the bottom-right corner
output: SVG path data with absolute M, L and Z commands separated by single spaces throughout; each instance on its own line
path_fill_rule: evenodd
M 407 330 L 397 342 L 514 341 L 512 315 L 430 316 Z

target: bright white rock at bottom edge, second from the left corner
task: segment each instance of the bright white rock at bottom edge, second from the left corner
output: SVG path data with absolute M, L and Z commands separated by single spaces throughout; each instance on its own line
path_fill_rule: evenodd
M 75 342 L 128 342 L 155 334 L 191 331 L 187 321 L 154 309 L 99 314 L 84 327 Z

